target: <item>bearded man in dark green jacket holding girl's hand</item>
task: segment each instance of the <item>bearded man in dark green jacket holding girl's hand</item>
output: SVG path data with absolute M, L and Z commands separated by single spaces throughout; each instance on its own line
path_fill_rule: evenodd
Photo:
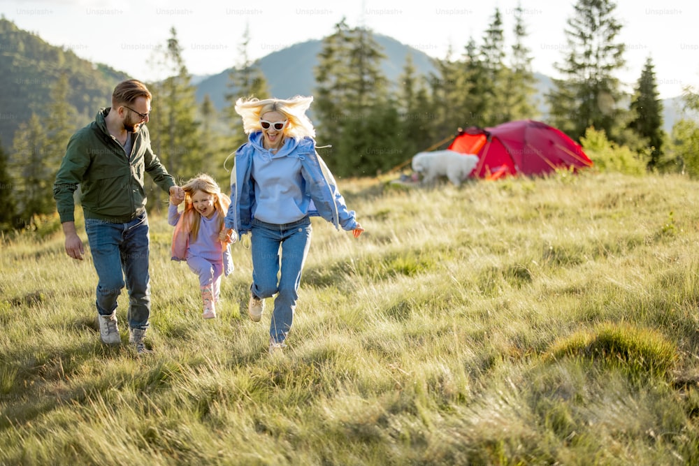
M 104 344 L 120 344 L 117 298 L 129 291 L 129 342 L 150 353 L 144 337 L 150 319 L 148 218 L 144 173 L 175 199 L 185 193 L 150 147 L 145 124 L 152 96 L 138 80 L 115 87 L 112 106 L 69 140 L 56 175 L 53 196 L 66 237 L 66 254 L 82 261 L 85 249 L 75 231 L 73 193 L 80 184 L 85 231 L 99 281 L 97 320 Z

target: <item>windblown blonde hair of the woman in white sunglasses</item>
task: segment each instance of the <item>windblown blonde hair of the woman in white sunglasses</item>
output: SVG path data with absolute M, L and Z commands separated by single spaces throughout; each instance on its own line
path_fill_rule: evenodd
M 295 96 L 291 99 L 264 99 L 255 97 L 240 98 L 236 101 L 236 112 L 243 117 L 245 134 L 262 129 L 260 117 L 267 112 L 280 112 L 287 117 L 289 123 L 284 126 L 284 136 L 291 138 L 315 138 L 315 129 L 310 119 L 305 115 L 313 97 Z

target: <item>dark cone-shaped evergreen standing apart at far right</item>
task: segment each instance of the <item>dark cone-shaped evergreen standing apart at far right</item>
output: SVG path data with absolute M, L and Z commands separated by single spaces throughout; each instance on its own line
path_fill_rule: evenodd
M 630 105 L 634 118 L 629 127 L 649 146 L 648 168 L 656 168 L 663 154 L 663 102 L 658 97 L 653 61 L 646 59 Z

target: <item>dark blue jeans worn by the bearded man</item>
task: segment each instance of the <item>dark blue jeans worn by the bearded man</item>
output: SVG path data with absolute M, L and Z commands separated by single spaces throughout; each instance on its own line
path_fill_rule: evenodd
M 85 219 L 92 261 L 97 271 L 97 312 L 103 316 L 117 308 L 124 279 L 129 291 L 129 326 L 145 330 L 150 318 L 150 235 L 145 212 L 126 224 Z

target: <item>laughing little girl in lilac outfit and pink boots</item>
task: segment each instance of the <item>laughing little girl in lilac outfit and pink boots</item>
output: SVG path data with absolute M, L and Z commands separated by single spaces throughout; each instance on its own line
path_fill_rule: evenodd
M 189 180 L 182 190 L 185 209 L 178 212 L 182 201 L 172 196 L 168 207 L 168 224 L 175 227 L 172 260 L 187 261 L 192 272 L 199 275 L 203 318 L 215 319 L 221 276 L 233 271 L 231 240 L 223 228 L 231 199 L 203 173 Z

